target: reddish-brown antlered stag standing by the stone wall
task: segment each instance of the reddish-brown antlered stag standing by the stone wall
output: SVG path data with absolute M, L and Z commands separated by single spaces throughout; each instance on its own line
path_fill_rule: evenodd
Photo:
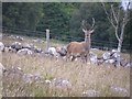
M 80 56 L 82 62 L 87 62 L 89 59 L 90 52 L 90 35 L 94 33 L 95 19 L 92 18 L 92 25 L 90 26 L 85 20 L 81 23 L 82 32 L 85 33 L 84 42 L 70 42 L 67 45 L 67 58 L 72 56 L 72 61 L 74 61 L 77 56 Z M 90 26 L 90 28 L 89 28 Z M 90 61 L 90 59 L 89 59 Z

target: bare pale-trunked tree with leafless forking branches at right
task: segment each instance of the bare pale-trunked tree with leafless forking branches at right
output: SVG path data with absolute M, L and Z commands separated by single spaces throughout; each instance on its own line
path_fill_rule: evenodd
M 129 6 L 130 6 L 130 2 L 128 2 L 125 10 L 122 10 L 122 8 L 119 4 L 119 8 L 117 10 L 116 8 L 113 8 L 113 4 L 111 4 L 111 12 L 109 14 L 108 11 L 106 10 L 105 3 L 102 2 L 102 7 L 105 9 L 107 18 L 108 18 L 109 22 L 112 24 L 112 26 L 114 28 L 116 37 L 119 42 L 118 43 L 119 55 L 121 53 L 121 47 L 122 47 L 122 43 L 123 43 L 124 29 L 125 29 L 128 22 L 130 21 Z M 120 56 L 119 56 L 119 61 L 118 61 L 118 66 L 120 66 Z

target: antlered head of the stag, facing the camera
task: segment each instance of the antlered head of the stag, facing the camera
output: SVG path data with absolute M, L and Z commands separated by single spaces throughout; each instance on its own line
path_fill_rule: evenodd
M 94 26 L 95 26 L 95 19 L 92 18 L 92 25 L 88 24 L 85 20 L 81 23 L 82 25 L 82 32 L 85 33 L 85 38 L 90 37 L 90 35 L 94 33 Z

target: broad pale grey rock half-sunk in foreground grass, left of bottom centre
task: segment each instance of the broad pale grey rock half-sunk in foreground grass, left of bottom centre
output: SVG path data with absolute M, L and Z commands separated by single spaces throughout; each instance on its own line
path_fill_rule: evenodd
M 52 82 L 50 84 L 51 87 L 57 87 L 62 89 L 72 89 L 72 84 L 63 78 L 54 78 Z

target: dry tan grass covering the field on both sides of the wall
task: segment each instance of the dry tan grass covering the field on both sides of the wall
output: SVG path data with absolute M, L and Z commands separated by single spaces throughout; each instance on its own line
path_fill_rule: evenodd
M 31 42 L 25 37 L 24 42 Z M 4 38 L 11 43 L 13 40 Z M 34 43 L 44 48 L 44 43 Z M 54 44 L 54 43 L 53 43 Z M 62 43 L 54 44 L 57 46 Z M 96 52 L 102 53 L 102 52 Z M 124 54 L 123 54 L 124 55 Z M 124 55 L 129 57 L 128 55 Z M 84 91 L 94 89 L 99 97 L 124 97 L 125 94 L 112 92 L 110 87 L 118 86 L 128 90 L 130 96 L 130 68 L 116 68 L 112 65 L 89 65 L 80 62 L 66 62 L 65 59 L 51 58 L 47 56 L 19 56 L 14 53 L 3 53 L 2 64 L 6 68 L 21 67 L 25 74 L 40 74 L 42 81 L 25 84 L 20 78 L 10 79 L 3 77 L 3 91 L 6 97 L 33 96 L 33 97 L 81 97 Z M 51 88 L 45 79 L 64 78 L 72 82 L 72 89 Z

